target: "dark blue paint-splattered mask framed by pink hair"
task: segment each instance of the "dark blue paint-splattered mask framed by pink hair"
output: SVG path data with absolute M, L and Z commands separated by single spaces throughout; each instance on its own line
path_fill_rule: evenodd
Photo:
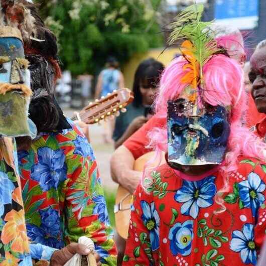
M 221 164 L 230 134 L 229 111 L 199 104 L 197 89 L 187 87 L 168 101 L 168 162 L 170 165 Z

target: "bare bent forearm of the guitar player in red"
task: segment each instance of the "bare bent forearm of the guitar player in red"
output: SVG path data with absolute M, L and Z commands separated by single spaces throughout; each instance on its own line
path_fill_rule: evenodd
M 134 171 L 135 159 L 130 151 L 120 146 L 111 157 L 111 176 L 114 182 L 133 193 L 142 177 L 142 172 Z

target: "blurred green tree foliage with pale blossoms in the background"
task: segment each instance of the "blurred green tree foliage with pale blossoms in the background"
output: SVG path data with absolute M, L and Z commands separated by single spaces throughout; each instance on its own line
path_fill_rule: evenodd
M 57 34 L 63 68 L 74 75 L 96 74 L 109 55 L 121 64 L 136 52 L 162 46 L 155 12 L 143 0 L 38 0 L 42 16 Z

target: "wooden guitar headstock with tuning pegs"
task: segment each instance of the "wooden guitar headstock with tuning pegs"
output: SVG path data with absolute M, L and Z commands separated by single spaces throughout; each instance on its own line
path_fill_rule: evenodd
M 126 88 L 114 90 L 107 96 L 90 102 L 80 113 L 80 119 L 87 124 L 94 124 L 119 111 L 125 111 L 124 107 L 134 99 L 133 93 Z

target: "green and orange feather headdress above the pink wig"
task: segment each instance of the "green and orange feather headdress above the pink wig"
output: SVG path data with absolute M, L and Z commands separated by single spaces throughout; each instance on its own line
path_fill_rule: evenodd
M 190 70 L 184 75 L 182 82 L 190 83 L 196 88 L 203 82 L 203 66 L 214 54 L 224 53 L 218 47 L 214 32 L 210 26 L 212 22 L 202 22 L 203 5 L 192 5 L 183 10 L 170 24 L 171 34 L 169 45 L 180 45 L 181 54 L 188 61 L 184 69 Z

